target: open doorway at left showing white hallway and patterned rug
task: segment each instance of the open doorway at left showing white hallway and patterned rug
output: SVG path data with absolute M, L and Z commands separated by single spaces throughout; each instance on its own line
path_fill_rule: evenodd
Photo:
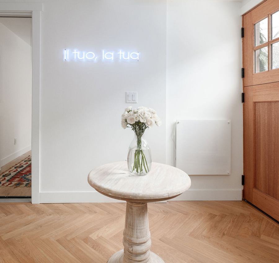
M 0 202 L 31 198 L 31 17 L 0 17 Z

